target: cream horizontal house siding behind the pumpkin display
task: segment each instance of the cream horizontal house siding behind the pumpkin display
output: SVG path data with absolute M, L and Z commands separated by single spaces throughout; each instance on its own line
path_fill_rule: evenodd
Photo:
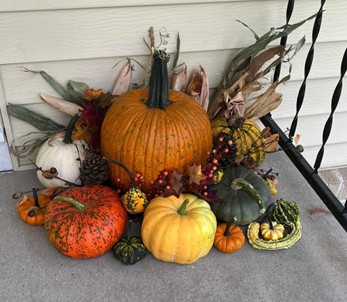
M 232 56 L 254 41 L 249 30 L 236 20 L 262 34 L 285 23 L 286 5 L 285 0 L 2 0 L 0 109 L 9 145 L 21 146 L 27 140 L 23 135 L 35 129 L 9 117 L 8 103 L 25 105 L 60 123 L 68 121 L 66 115 L 44 104 L 38 96 L 42 92 L 55 95 L 52 88 L 39 75 L 23 72 L 20 66 L 45 70 L 62 84 L 73 79 L 108 91 L 121 68 L 121 64 L 112 68 L 115 63 L 131 57 L 146 66 L 149 54 L 143 38 L 150 26 L 157 31 L 165 27 L 171 36 L 168 52 L 174 52 L 179 32 L 180 62 L 187 63 L 190 70 L 202 65 L 213 89 Z M 314 14 L 319 6 L 318 0 L 297 1 L 291 23 Z M 297 128 L 305 147 L 303 155 L 311 164 L 321 144 L 331 96 L 339 79 L 347 40 L 346 15 L 345 1 L 327 1 Z M 296 43 L 305 35 L 307 43 L 292 61 L 291 80 L 279 87 L 283 103 L 273 116 L 283 130 L 290 127 L 295 114 L 312 26 L 313 21 L 308 22 L 289 38 L 289 43 Z M 145 71 L 135 66 L 132 81 L 141 83 L 144 76 Z M 339 130 L 347 128 L 346 97 L 344 88 L 322 168 L 347 165 L 347 136 Z M 12 160 L 16 170 L 32 168 L 28 159 Z

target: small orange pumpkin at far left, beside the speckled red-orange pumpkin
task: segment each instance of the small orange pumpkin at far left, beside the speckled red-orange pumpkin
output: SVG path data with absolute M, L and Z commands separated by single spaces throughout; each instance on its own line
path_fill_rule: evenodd
M 43 225 L 45 223 L 45 212 L 51 199 L 45 195 L 37 194 L 37 189 L 33 189 L 33 195 L 22 195 L 17 203 L 17 212 L 21 220 L 32 226 Z

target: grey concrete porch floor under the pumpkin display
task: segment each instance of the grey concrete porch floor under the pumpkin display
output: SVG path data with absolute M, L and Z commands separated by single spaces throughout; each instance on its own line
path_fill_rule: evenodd
M 21 222 L 12 194 L 39 186 L 33 171 L 0 175 L 0 297 L 25 301 L 346 301 L 347 236 L 283 153 L 264 168 L 279 172 L 278 195 L 298 202 L 303 238 L 291 249 L 216 249 L 192 265 L 148 255 L 126 266 L 109 252 L 90 260 L 59 254 L 44 227 Z

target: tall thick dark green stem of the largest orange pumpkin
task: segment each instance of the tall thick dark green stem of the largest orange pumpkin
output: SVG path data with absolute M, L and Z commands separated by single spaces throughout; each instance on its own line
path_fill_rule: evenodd
M 172 101 L 169 100 L 169 75 L 167 71 L 169 58 L 165 51 L 154 50 L 149 78 L 149 97 L 145 100 L 148 108 L 165 110 L 167 106 L 172 104 Z

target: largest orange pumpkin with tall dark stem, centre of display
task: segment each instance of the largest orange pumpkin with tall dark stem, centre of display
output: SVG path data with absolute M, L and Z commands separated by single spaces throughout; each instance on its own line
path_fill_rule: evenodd
M 181 173 L 194 162 L 204 163 L 212 147 L 211 125 L 204 109 L 182 92 L 169 91 L 167 56 L 156 51 L 149 89 L 118 97 L 101 128 L 101 153 L 143 174 L 144 191 L 164 169 Z M 110 180 L 126 188 L 125 171 L 110 165 Z

